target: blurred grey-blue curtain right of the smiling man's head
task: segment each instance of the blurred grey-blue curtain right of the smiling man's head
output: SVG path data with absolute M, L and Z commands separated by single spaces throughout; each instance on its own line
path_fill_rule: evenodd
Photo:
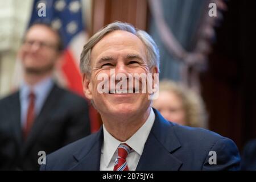
M 156 2 L 159 3 L 159 5 L 155 5 Z M 159 28 L 161 27 L 159 25 L 157 26 L 158 22 L 156 21 L 158 21 L 158 19 L 154 17 L 154 9 L 156 6 L 160 6 L 160 11 L 162 10 L 162 15 L 160 16 L 164 19 L 164 23 L 170 28 L 175 39 L 182 49 L 184 49 L 183 51 L 187 52 L 193 50 L 195 46 L 197 30 L 205 10 L 208 7 L 208 1 L 152 0 L 149 1 L 149 3 L 152 18 L 149 21 L 148 32 L 155 40 L 156 44 L 158 44 L 160 50 L 161 73 L 159 78 L 160 80 L 162 78 L 169 78 L 171 80 L 181 81 L 181 65 L 184 64 L 184 61 L 181 59 L 183 57 L 175 55 L 174 52 L 170 51 L 170 46 L 163 43 L 164 38 L 161 38 L 159 32 Z

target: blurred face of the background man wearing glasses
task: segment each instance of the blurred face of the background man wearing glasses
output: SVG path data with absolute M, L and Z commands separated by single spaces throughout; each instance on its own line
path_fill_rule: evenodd
M 20 49 L 20 58 L 26 72 L 51 71 L 59 58 L 58 38 L 55 32 L 44 25 L 32 26 Z

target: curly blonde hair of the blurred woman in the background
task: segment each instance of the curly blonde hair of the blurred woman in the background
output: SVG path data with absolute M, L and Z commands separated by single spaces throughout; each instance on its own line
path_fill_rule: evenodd
M 187 126 L 207 128 L 207 112 L 203 99 L 193 90 L 186 88 L 174 81 L 163 80 L 159 82 L 159 92 L 167 91 L 174 93 L 180 98 L 185 111 Z

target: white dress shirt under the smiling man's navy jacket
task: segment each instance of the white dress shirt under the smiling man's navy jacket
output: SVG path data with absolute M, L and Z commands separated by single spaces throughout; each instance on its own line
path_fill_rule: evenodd
M 146 143 L 147 137 L 150 134 L 151 128 L 155 121 L 155 113 L 151 107 L 150 115 L 148 116 L 146 122 L 141 126 L 141 128 L 136 131 L 133 136 L 131 136 L 125 142 L 120 142 L 115 139 L 103 125 L 104 142 L 101 147 L 101 171 L 113 171 L 115 159 L 118 156 L 118 146 L 120 143 L 128 144 L 133 150 L 126 158 L 127 166 L 130 171 L 135 171 L 141 158 L 144 144 Z

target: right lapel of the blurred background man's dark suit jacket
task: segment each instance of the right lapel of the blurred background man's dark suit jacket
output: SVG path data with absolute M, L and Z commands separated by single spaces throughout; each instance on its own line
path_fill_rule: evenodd
M 59 96 L 60 94 L 60 89 L 57 87 L 57 85 L 53 85 L 51 92 L 49 93 L 46 101 L 43 104 L 42 110 L 40 111 L 38 117 L 35 118 L 31 131 L 28 134 L 26 141 L 24 142 L 22 154 L 26 154 L 26 152 L 32 146 L 32 143 L 36 141 L 36 138 L 40 134 L 40 131 L 42 131 L 43 127 L 46 126 L 46 123 L 49 121 L 48 118 L 55 111 L 54 108 L 58 102 L 57 98 L 59 98 L 56 96 Z

